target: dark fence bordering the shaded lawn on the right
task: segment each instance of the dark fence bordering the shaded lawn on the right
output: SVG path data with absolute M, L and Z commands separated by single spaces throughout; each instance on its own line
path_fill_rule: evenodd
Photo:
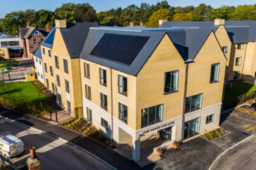
M 231 109 L 240 104 L 246 103 L 246 101 L 254 100 L 256 98 L 256 90 L 247 94 L 240 95 L 238 97 L 226 100 L 222 103 L 222 110 Z

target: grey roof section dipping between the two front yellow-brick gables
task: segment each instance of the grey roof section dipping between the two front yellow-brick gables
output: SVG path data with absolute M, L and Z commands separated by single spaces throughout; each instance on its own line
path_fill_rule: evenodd
M 194 60 L 212 30 L 177 30 L 167 32 L 184 61 Z

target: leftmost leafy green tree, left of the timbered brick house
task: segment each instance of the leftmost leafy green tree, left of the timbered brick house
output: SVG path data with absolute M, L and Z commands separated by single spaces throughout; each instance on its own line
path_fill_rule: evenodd
M 26 27 L 24 23 L 24 12 L 11 12 L 2 19 L 2 29 L 10 35 L 18 35 L 19 27 Z

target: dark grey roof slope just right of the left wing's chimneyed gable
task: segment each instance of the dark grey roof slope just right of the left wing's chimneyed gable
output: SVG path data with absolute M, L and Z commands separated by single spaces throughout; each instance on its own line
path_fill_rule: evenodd
M 67 22 L 66 29 L 60 29 L 71 58 L 80 56 L 90 27 L 98 26 L 97 22 Z

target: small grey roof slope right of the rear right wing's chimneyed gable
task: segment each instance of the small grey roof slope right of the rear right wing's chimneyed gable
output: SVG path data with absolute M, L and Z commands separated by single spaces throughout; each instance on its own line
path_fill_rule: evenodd
M 249 27 L 226 26 L 226 30 L 232 44 L 249 42 Z

